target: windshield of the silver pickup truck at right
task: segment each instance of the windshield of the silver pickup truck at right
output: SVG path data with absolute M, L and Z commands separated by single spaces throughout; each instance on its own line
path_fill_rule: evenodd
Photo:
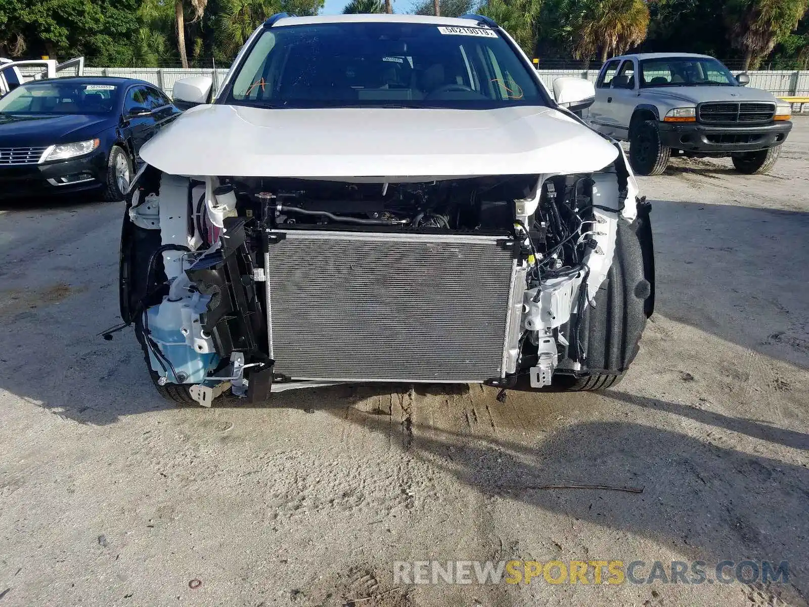
M 641 65 L 641 88 L 738 87 L 731 71 L 711 57 L 646 59 Z

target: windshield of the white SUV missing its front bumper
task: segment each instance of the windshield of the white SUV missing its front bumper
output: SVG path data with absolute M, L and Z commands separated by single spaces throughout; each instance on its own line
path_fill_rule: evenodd
M 489 28 L 285 26 L 261 34 L 220 103 L 273 108 L 547 105 L 529 69 Z

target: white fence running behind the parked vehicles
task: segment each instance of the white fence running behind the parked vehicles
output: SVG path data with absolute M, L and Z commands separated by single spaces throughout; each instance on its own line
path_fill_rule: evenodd
M 595 83 L 599 74 L 598 68 L 593 70 L 537 70 L 542 81 L 553 90 L 553 80 L 562 76 L 583 78 Z M 227 74 L 227 68 L 189 68 L 181 67 L 85 67 L 86 76 L 123 76 L 125 78 L 138 78 L 156 84 L 169 95 L 172 94 L 174 83 L 189 76 L 210 76 L 214 79 L 216 90 Z M 776 96 L 809 96 L 809 71 L 795 70 L 758 70 L 749 71 L 752 88 L 763 88 Z

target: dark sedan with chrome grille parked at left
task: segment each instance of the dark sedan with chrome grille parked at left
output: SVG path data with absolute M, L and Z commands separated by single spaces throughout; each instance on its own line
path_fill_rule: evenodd
M 141 146 L 179 114 L 142 80 L 23 84 L 0 99 L 0 198 L 86 191 L 122 200 Z

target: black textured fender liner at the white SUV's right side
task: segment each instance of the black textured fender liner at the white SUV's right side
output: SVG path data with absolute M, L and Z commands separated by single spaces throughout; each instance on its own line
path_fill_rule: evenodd
M 587 306 L 582 314 L 580 340 L 570 344 L 570 358 L 583 367 L 575 375 L 621 374 L 635 358 L 646 318 L 654 309 L 651 247 L 648 204 L 642 200 L 637 219 L 619 219 L 607 279 L 595 294 L 595 306 Z

